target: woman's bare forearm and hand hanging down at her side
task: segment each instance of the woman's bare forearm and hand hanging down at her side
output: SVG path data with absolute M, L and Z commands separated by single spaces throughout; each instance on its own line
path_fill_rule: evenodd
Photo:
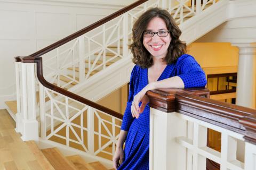
M 113 157 L 113 166 L 117 169 L 124 161 L 123 145 L 127 136 L 127 131 L 121 130 L 118 141 L 116 143 L 116 151 Z

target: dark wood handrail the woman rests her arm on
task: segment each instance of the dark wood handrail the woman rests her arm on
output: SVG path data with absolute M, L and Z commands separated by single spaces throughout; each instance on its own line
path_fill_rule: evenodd
M 149 105 L 163 112 L 178 112 L 243 134 L 256 145 L 256 110 L 202 96 L 202 90 L 157 89 L 148 91 Z M 201 93 L 201 94 L 200 94 Z

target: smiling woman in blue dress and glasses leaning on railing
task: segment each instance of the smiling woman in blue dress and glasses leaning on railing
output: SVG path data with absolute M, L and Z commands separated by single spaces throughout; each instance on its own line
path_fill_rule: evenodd
M 117 148 L 115 169 L 149 169 L 149 106 L 145 95 L 157 88 L 204 87 L 205 74 L 185 54 L 181 31 L 166 10 L 152 8 L 133 25 L 131 50 L 136 64 Z M 125 149 L 123 145 L 125 142 Z

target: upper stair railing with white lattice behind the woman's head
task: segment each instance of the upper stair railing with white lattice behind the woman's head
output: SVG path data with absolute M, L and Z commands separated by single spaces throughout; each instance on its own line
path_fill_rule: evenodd
M 195 5 L 195 2 L 198 5 Z M 218 0 L 140 0 L 30 56 L 44 58 L 45 79 L 72 89 L 123 58 L 131 58 L 132 25 L 150 7 L 161 6 L 182 24 Z

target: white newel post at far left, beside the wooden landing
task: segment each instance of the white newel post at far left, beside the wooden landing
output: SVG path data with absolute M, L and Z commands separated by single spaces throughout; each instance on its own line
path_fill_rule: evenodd
M 22 63 L 22 106 L 20 113 L 21 139 L 38 140 L 38 122 L 36 120 L 35 63 Z

